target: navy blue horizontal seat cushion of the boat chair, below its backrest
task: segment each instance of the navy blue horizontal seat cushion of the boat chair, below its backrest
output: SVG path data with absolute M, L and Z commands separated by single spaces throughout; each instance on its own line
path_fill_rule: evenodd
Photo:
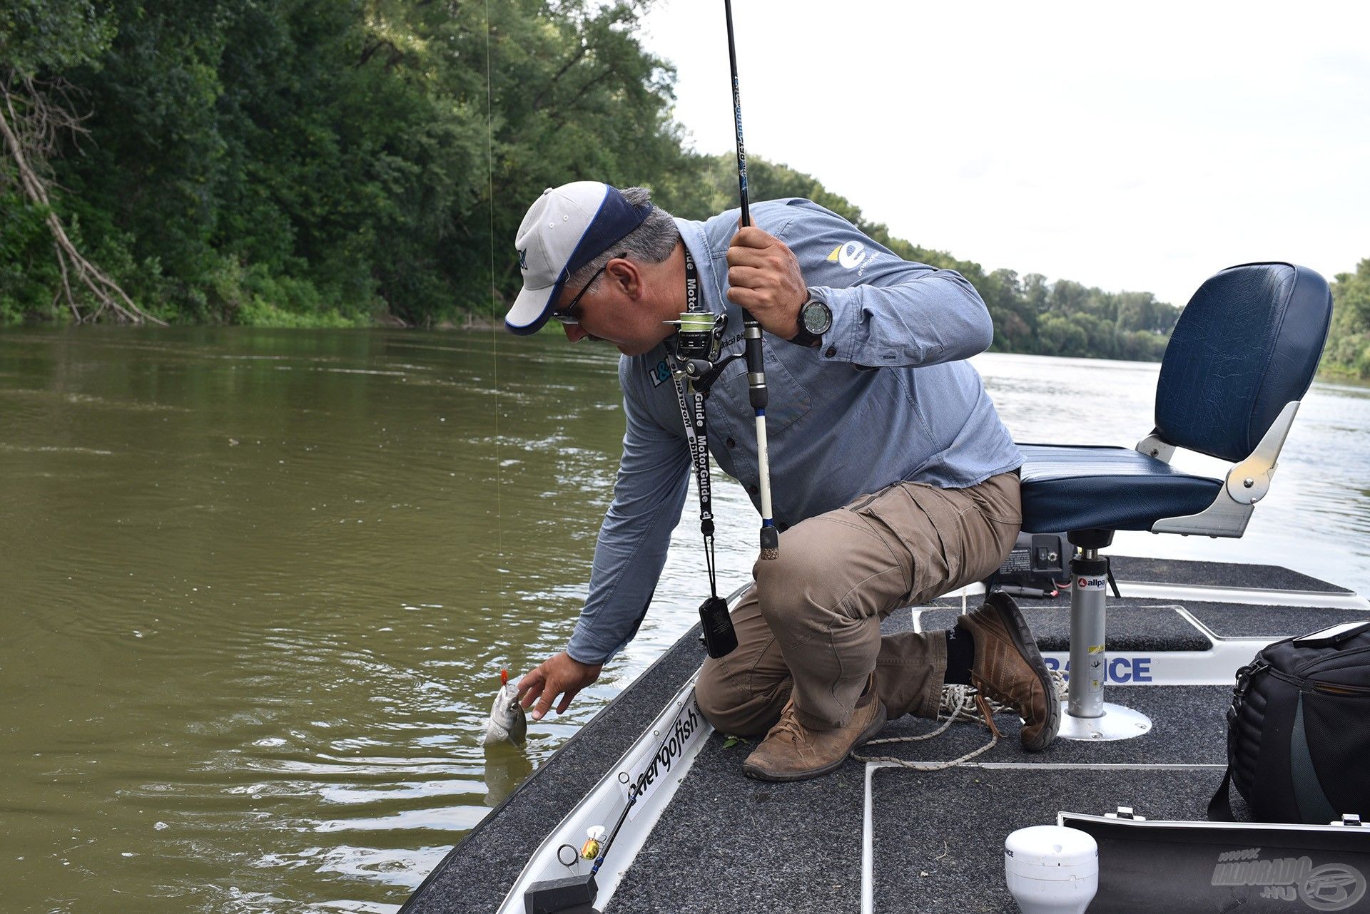
M 1222 480 L 1191 476 L 1132 447 L 1019 445 L 1023 530 L 1151 530 L 1208 508 Z

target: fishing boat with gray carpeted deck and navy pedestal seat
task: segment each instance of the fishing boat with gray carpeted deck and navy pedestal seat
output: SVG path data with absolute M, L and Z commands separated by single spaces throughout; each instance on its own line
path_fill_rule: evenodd
M 606 837 L 619 818 L 623 828 L 595 873 L 593 907 L 555 910 L 1012 913 L 1004 841 L 1017 829 L 1111 815 L 1171 824 L 1171 833 L 1188 836 L 1181 843 L 1192 843 L 1226 769 L 1238 668 L 1274 640 L 1370 621 L 1370 602 L 1275 565 L 1106 561 L 1103 550 L 1115 530 L 1244 532 L 1270 487 L 1329 317 L 1326 283 L 1306 268 L 1222 271 L 1191 300 L 1171 337 L 1156 430 L 1132 449 L 1022 446 L 1029 558 L 1054 561 L 1069 583 L 1069 597 L 1047 588 L 1017 597 L 1069 688 L 1062 736 L 1045 751 L 1023 751 L 1021 721 L 1000 714 L 1001 739 L 978 754 L 991 731 L 967 718 L 932 739 L 863 747 L 866 761 L 851 758 L 817 780 L 748 780 L 741 762 L 751 746 L 712 732 L 695 706 L 704 658 L 696 628 L 458 844 L 401 914 L 553 910 L 548 887 L 584 885 L 595 866 L 585 843 Z M 1175 445 L 1223 456 L 1226 478 L 1173 469 Z M 1048 531 L 1067 531 L 1051 536 L 1069 546 L 1037 554 L 1032 536 Z M 973 586 L 903 608 L 882 628 L 949 628 L 982 594 Z M 1103 701 L 1106 688 L 1115 702 Z M 927 736 L 934 727 L 903 717 L 881 737 Z M 1234 811 L 1241 820 L 1240 798 Z M 1370 829 L 1354 818 L 1322 828 L 1344 829 L 1340 839 L 1370 851 Z M 1193 844 L 1208 850 L 1191 848 L 1191 858 L 1210 844 Z M 1219 862 L 1203 858 L 1196 872 Z M 1110 866 L 1118 869 L 1104 850 L 1099 866 L 1101 883 Z M 1228 910 L 1185 900 L 1175 872 L 1155 872 L 1133 893 L 1140 907 L 1126 910 Z M 1365 910 L 1370 866 L 1351 873 L 1359 895 L 1308 907 Z M 1243 891 L 1228 902 L 1299 910 L 1278 907 L 1289 903 L 1280 885 Z

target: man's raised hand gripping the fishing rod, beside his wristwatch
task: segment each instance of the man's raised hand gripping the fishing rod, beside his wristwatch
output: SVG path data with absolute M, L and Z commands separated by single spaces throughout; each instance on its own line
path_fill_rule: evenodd
M 727 248 L 727 298 L 752 312 L 762 330 L 781 339 L 799 332 L 808 286 L 784 241 L 756 226 L 738 228 Z

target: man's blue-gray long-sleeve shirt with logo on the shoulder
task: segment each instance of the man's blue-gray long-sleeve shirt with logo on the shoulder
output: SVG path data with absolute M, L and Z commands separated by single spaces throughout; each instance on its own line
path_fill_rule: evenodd
M 751 216 L 795 252 L 804 282 L 833 312 L 818 348 L 764 341 L 771 508 L 781 530 L 899 480 L 962 488 L 1022 464 L 980 374 L 964 361 L 989 348 L 993 326 L 960 274 L 900 260 L 808 200 L 760 203 Z M 740 352 L 741 311 L 725 294 L 737 211 L 675 222 L 699 268 L 704 306 L 727 313 L 723 352 Z M 586 664 L 608 660 L 637 634 L 690 478 L 666 345 L 623 356 L 618 375 L 623 457 L 589 597 L 567 644 Z M 707 423 L 714 460 L 759 506 L 744 360 L 715 382 Z

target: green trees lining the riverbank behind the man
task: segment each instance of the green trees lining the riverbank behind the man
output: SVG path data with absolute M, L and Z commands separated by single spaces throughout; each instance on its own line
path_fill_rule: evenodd
M 501 0 L 486 22 L 451 0 L 8 0 L 0 323 L 453 324 L 516 290 L 514 231 L 543 187 L 730 208 L 732 159 L 670 119 L 675 74 L 636 37 L 645 5 Z M 1149 293 L 985 272 L 748 164 L 755 198 L 811 197 L 962 271 L 999 350 L 1156 358 L 1177 319 Z M 1345 330 L 1338 358 L 1366 371 L 1363 317 Z

